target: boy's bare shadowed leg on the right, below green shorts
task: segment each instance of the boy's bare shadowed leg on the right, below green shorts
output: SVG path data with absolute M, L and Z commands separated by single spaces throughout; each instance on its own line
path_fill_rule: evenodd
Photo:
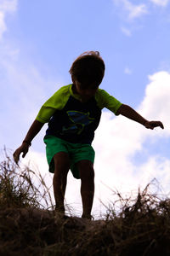
M 94 201 L 94 164 L 89 160 L 77 162 L 81 178 L 82 218 L 90 218 Z

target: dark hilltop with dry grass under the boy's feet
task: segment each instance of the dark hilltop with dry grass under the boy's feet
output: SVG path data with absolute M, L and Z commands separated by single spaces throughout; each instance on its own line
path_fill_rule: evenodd
M 113 202 L 90 221 L 44 209 L 48 189 L 40 177 L 40 193 L 31 174 L 8 156 L 0 163 L 0 255 L 170 255 L 170 200 L 151 195 L 150 185 L 135 200 L 117 193 L 119 211 Z

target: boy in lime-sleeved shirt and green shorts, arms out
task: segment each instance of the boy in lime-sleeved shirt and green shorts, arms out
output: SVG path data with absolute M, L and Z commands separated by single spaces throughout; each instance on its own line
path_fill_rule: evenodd
M 72 84 L 61 87 L 42 105 L 37 118 L 26 134 L 20 148 L 14 152 L 18 162 L 25 157 L 32 139 L 48 123 L 44 137 L 49 172 L 54 173 L 56 211 L 65 213 L 64 198 L 67 173 L 81 178 L 82 218 L 91 218 L 94 201 L 94 149 L 91 143 L 99 125 L 101 110 L 110 109 L 148 129 L 164 128 L 160 121 L 148 121 L 133 108 L 122 104 L 99 89 L 105 74 L 105 63 L 97 51 L 88 51 L 77 57 L 71 69 Z

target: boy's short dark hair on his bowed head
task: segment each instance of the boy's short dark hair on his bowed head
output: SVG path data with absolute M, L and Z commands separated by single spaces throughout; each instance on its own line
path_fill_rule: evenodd
M 99 55 L 99 51 L 86 51 L 79 55 L 72 63 L 71 79 L 77 79 L 82 84 L 101 83 L 105 74 L 105 63 Z

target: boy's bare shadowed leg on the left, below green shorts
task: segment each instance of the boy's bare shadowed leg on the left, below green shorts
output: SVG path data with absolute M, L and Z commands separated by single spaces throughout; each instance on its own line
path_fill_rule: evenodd
M 70 169 L 69 155 L 59 152 L 54 155 L 54 198 L 56 210 L 65 213 L 64 200 L 67 174 Z

